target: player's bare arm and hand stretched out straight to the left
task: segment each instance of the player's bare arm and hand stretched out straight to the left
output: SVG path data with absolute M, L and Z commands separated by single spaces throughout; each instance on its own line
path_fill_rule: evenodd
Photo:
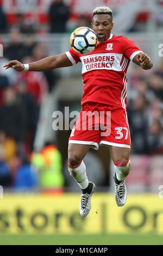
M 56 56 L 46 57 L 38 60 L 37 62 L 29 63 L 28 71 L 45 71 L 57 68 L 63 68 L 65 66 L 72 66 L 70 59 L 68 59 L 66 53 L 62 53 Z M 24 64 L 18 62 L 18 60 L 10 60 L 3 66 L 5 69 L 15 69 L 17 71 L 24 70 Z M 25 69 L 26 70 L 26 69 Z

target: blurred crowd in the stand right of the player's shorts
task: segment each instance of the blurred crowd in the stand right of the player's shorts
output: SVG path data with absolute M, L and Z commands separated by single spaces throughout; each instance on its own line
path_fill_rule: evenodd
M 133 66 L 129 79 L 128 120 L 134 154 L 163 153 L 163 62 L 158 69 Z

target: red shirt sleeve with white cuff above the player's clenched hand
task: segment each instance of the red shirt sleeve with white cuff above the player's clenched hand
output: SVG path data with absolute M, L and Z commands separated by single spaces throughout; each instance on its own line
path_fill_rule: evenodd
M 122 40 L 122 52 L 128 59 L 133 60 L 137 53 L 143 52 L 137 47 L 133 41 L 123 37 Z

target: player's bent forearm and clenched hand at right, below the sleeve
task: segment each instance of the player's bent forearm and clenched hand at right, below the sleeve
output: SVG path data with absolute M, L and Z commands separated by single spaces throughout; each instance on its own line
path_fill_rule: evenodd
M 146 53 L 138 53 L 133 58 L 133 62 L 141 66 L 142 69 L 152 69 L 153 63 L 151 58 Z

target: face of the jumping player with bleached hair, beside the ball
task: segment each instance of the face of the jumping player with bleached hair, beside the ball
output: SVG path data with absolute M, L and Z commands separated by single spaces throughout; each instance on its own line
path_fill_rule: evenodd
M 113 23 L 109 14 L 96 14 L 93 16 L 92 29 L 98 37 L 98 41 L 102 42 L 109 38 Z

